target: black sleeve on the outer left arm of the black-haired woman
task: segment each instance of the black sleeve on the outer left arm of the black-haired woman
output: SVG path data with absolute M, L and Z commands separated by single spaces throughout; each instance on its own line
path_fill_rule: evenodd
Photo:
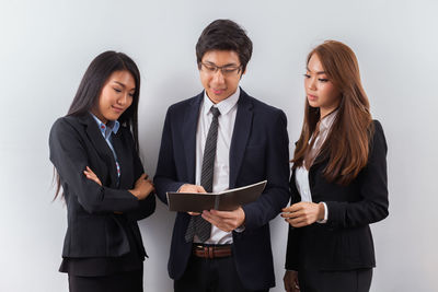
M 62 187 L 70 196 L 77 196 L 88 212 L 129 212 L 139 207 L 138 199 L 128 190 L 100 186 L 85 177 L 83 171 L 89 165 L 87 150 L 77 130 L 66 119 L 58 119 L 53 126 L 49 148 L 50 161 Z

